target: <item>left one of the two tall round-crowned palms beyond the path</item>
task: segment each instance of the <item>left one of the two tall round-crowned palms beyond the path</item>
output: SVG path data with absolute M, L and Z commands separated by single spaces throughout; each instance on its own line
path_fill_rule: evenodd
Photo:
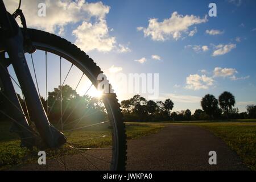
M 213 95 L 205 95 L 201 100 L 201 106 L 211 119 L 218 114 L 218 100 Z

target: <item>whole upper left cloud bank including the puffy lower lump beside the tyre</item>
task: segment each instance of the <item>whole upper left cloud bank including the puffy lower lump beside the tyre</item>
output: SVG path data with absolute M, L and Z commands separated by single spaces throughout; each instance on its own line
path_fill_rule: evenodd
M 18 7 L 18 2 L 6 0 L 5 5 L 10 12 L 14 12 Z M 102 2 L 89 3 L 85 0 L 45 0 L 46 16 L 40 17 L 38 16 L 40 2 L 42 1 L 22 1 L 22 10 L 27 17 L 28 27 L 63 36 L 67 25 L 79 24 L 73 30 L 73 35 L 75 35 L 75 44 L 83 51 L 108 52 L 113 49 L 121 50 L 121 52 L 128 51 L 127 48 L 117 44 L 114 36 L 109 35 L 106 15 L 110 11 L 110 6 L 104 5 Z

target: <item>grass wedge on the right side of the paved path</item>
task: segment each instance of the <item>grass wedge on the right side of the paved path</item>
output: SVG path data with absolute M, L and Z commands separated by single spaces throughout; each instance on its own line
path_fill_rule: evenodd
M 239 121 L 239 122 L 238 122 Z M 236 151 L 251 170 L 256 170 L 256 119 L 236 120 L 234 122 L 182 122 L 183 125 L 203 127 L 220 137 Z M 178 123 L 177 123 L 178 124 Z M 181 123 L 180 123 L 181 124 Z

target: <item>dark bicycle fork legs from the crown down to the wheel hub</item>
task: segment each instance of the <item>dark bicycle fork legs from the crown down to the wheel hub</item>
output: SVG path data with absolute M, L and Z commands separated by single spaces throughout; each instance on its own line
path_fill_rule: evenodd
M 28 114 L 30 115 L 30 119 L 35 123 L 36 129 L 39 131 L 40 137 L 44 140 L 48 147 L 54 148 L 58 147 L 61 144 L 66 142 L 66 139 L 60 131 L 53 127 L 47 118 L 46 112 L 44 111 L 42 102 L 36 90 L 34 81 L 32 80 L 32 76 L 30 73 L 30 69 L 28 68 L 26 58 L 24 56 L 23 51 L 23 35 L 18 28 L 18 34 L 12 36 L 11 38 L 6 38 L 4 40 L 4 45 L 6 51 L 10 57 L 11 64 L 13 65 L 14 71 L 16 73 L 16 77 L 18 78 L 20 88 L 24 94 Z M 10 79 L 10 75 L 5 75 L 7 67 L 1 67 L 1 77 L 4 76 L 6 79 L 2 79 L 2 84 L 7 92 L 9 92 L 8 97 L 9 100 L 13 102 L 13 104 L 18 105 L 16 109 L 13 110 L 13 114 L 16 118 L 19 118 L 20 125 L 23 127 L 19 127 L 19 130 L 22 131 L 22 137 L 33 137 L 27 130 L 31 131 L 30 126 L 28 126 L 28 122 L 24 114 L 21 116 L 20 110 L 22 108 L 19 104 L 19 100 L 16 96 L 13 84 Z M 9 78 L 8 78 L 9 77 Z M 19 109 L 19 110 L 18 110 Z M 22 117 L 22 119 L 20 119 Z M 14 124 L 16 124 L 14 122 Z

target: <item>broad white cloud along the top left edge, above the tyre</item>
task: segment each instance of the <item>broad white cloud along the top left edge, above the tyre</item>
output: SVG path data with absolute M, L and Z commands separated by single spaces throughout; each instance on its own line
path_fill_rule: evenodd
M 18 2 L 16 0 L 6 0 L 5 5 L 7 10 L 14 12 L 18 7 Z M 88 3 L 84 0 L 46 0 L 46 16 L 40 17 L 38 16 L 38 4 L 40 2 L 42 1 L 22 1 L 22 11 L 27 17 L 28 27 L 39 28 L 48 32 L 56 32 L 68 23 L 77 23 L 81 20 L 88 21 L 93 16 L 103 19 L 109 13 L 110 9 L 109 6 L 103 5 L 102 2 Z

